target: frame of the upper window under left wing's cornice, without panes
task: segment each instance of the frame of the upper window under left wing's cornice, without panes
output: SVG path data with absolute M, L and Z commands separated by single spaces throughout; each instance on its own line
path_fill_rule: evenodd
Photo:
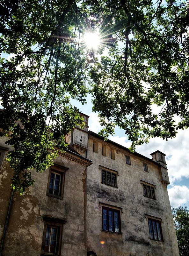
M 69 168 L 54 164 L 49 168 L 49 175 L 48 175 L 48 183 L 47 183 L 47 196 L 55 197 L 58 199 L 63 200 L 63 194 L 64 194 L 64 181 L 65 181 L 65 173 Z M 55 195 L 49 192 L 50 190 L 50 181 L 51 181 L 51 173 L 55 173 L 57 175 L 60 175 L 60 185 L 59 185 L 59 194 Z

